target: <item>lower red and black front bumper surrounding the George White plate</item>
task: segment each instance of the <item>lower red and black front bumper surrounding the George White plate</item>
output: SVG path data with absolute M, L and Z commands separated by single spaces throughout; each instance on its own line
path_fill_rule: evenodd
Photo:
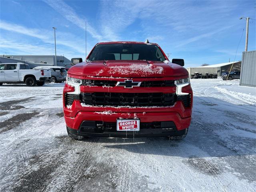
M 184 130 L 189 127 L 191 117 L 181 118 L 178 112 L 90 112 L 80 111 L 75 117 L 64 116 L 66 125 L 70 128 L 70 132 L 83 136 L 101 136 L 101 137 L 161 137 L 161 136 L 174 136 L 182 135 Z M 150 128 L 145 127 L 140 131 L 121 132 L 116 131 L 116 126 L 105 128 L 98 127 L 98 122 L 109 122 L 116 124 L 119 118 L 132 119 L 139 118 L 140 123 L 152 122 L 173 122 L 172 129 L 168 128 Z M 97 122 L 97 126 L 88 127 L 88 132 L 81 130 L 84 121 Z

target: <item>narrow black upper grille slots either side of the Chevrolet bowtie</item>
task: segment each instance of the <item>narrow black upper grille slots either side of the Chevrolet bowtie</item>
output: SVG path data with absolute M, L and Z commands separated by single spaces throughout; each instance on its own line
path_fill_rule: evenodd
M 135 80 L 134 80 L 135 81 Z M 118 81 L 112 80 L 83 80 L 83 86 L 116 86 Z M 142 81 L 140 87 L 172 87 L 174 85 L 174 80 L 166 81 Z

